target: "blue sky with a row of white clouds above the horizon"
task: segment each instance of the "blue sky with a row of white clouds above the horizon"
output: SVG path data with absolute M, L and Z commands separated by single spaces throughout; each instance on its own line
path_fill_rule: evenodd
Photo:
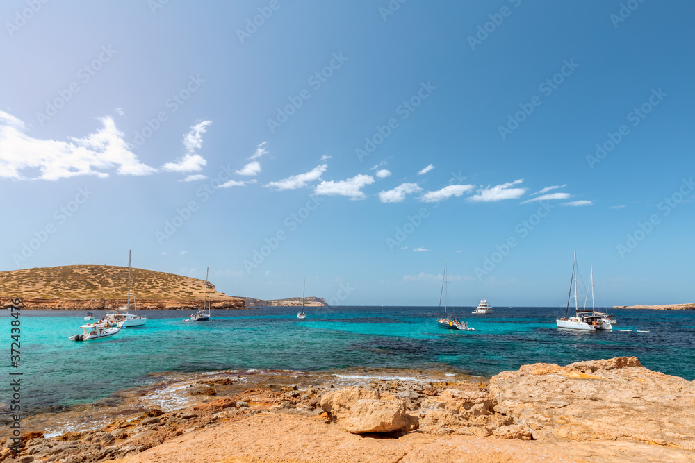
M 695 301 L 695 5 L 334 3 L 3 2 L 0 269 Z

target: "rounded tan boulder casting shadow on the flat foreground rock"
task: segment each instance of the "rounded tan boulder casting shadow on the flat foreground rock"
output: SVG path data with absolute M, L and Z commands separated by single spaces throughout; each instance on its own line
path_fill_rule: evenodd
M 352 434 L 418 428 L 418 417 L 407 414 L 404 401 L 360 387 L 345 387 L 325 394 L 321 408 Z

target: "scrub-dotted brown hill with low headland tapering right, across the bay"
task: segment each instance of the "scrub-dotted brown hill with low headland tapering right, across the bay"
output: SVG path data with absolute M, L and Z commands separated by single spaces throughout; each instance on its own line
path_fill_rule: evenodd
M 161 271 L 132 269 L 138 309 L 201 308 L 205 280 Z M 261 305 L 302 305 L 302 298 L 263 301 L 227 296 L 207 283 L 213 309 L 247 309 Z M 100 310 L 126 303 L 128 267 L 113 265 L 66 265 L 0 272 L 0 307 L 21 298 L 27 309 Z M 298 301 L 298 303 L 297 303 Z M 132 303 L 133 301 L 131 301 Z M 322 298 L 306 298 L 307 306 L 328 305 Z

